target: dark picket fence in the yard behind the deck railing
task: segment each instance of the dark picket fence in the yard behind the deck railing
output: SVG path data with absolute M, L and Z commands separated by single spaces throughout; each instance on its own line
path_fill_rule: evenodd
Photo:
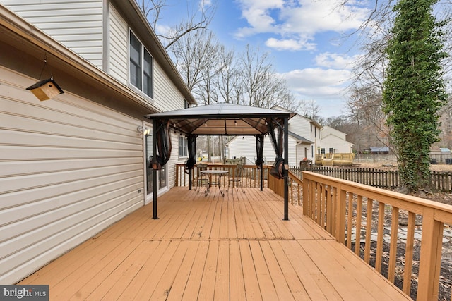
M 290 171 L 302 178 L 302 168 L 290 166 Z M 338 168 L 331 166 L 314 166 L 309 171 L 325 176 L 351 180 L 356 183 L 383 189 L 397 189 L 400 185 L 398 171 L 386 171 L 378 168 Z M 441 191 L 452 191 L 452 173 L 432 171 L 432 184 Z

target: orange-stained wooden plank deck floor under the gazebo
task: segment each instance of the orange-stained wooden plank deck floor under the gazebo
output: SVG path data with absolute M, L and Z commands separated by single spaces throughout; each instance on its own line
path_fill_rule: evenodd
M 50 300 L 410 300 L 271 190 L 172 188 L 19 284 Z

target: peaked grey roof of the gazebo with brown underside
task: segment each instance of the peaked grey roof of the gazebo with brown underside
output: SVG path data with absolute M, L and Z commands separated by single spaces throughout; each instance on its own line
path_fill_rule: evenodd
M 268 122 L 283 125 L 295 113 L 255 106 L 218 103 L 145 117 L 169 121 L 172 128 L 192 135 L 260 135 L 268 133 Z

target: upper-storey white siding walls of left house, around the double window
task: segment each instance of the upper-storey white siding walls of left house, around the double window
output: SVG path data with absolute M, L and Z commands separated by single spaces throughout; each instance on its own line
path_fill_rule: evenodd
M 1 4 L 19 16 L 39 27 L 48 35 L 69 47 L 84 59 L 112 75 L 123 85 L 129 84 L 129 25 L 112 4 L 106 23 L 109 30 L 105 48 L 102 47 L 103 17 L 102 0 L 0 0 Z M 141 37 L 138 36 L 138 39 Z M 143 40 L 141 39 L 141 42 Z M 146 45 L 145 45 L 146 47 Z M 148 50 L 150 47 L 146 47 Z M 108 65 L 102 68 L 102 51 L 107 51 Z M 153 55 L 151 53 L 151 55 Z M 153 99 L 138 92 L 153 102 L 158 111 L 184 108 L 184 97 L 163 70 L 160 63 L 153 60 Z M 134 87 L 131 87 L 133 90 Z

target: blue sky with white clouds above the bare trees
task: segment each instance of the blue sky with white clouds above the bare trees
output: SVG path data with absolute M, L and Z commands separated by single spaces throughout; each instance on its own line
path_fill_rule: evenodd
M 198 8 L 200 0 L 167 0 L 160 26 Z M 207 1 L 215 0 L 204 0 Z M 275 71 L 299 100 L 314 100 L 320 115 L 345 112 L 345 89 L 359 52 L 352 39 L 369 14 L 359 0 L 217 0 L 210 24 L 225 47 L 244 51 L 246 44 L 269 54 Z

